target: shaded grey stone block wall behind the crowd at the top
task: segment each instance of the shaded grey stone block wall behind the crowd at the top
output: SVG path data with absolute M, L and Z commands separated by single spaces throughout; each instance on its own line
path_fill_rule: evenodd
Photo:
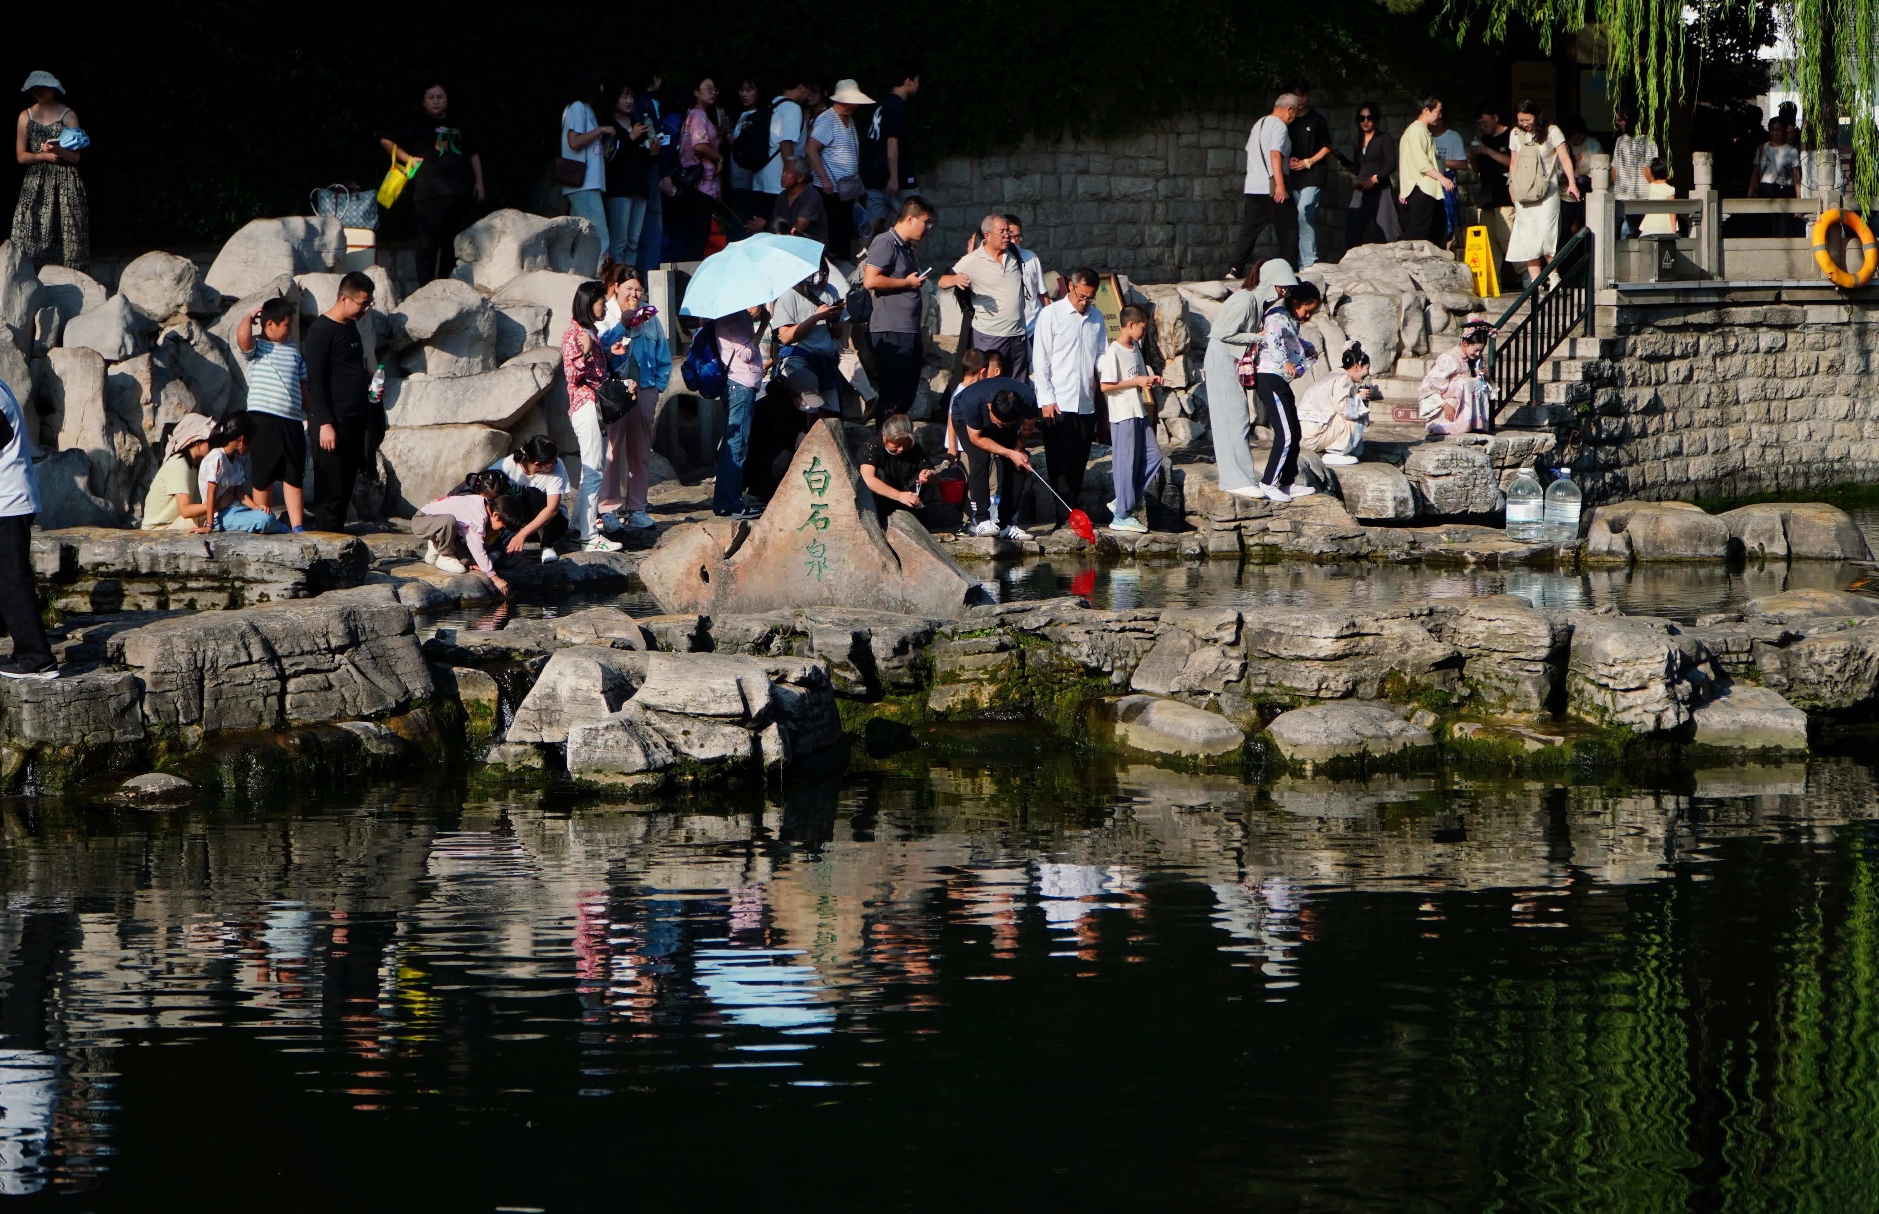
M 1317 98 L 1332 145 L 1351 152 L 1359 98 Z M 1390 137 L 1413 103 L 1377 105 Z M 921 173 L 921 195 L 940 209 L 923 257 L 951 265 L 966 235 L 988 212 L 1024 220 L 1024 242 L 1045 269 L 1090 265 L 1137 282 L 1218 278 L 1240 233 L 1246 133 L 1268 107 L 1195 111 L 1114 139 L 1028 139 L 988 156 L 951 156 Z M 1343 248 L 1349 179 L 1332 163 L 1334 184 L 1319 207 L 1319 241 Z

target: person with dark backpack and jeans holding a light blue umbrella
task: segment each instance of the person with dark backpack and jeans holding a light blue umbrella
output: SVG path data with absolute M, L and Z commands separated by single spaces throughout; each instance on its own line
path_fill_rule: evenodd
M 761 513 L 744 507 L 744 457 L 750 451 L 757 389 L 763 387 L 767 308 L 784 291 L 821 271 L 821 259 L 823 246 L 815 241 L 757 233 L 705 257 L 678 304 L 680 316 L 710 321 L 708 340 L 725 372 L 725 423 L 712 489 L 712 513 L 720 519 L 755 519 Z M 688 381 L 693 374 L 688 361 Z

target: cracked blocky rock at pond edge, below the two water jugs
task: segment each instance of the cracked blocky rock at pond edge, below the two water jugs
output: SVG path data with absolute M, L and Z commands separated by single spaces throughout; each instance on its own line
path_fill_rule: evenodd
M 1462 677 L 1501 712 L 1545 712 L 1565 673 L 1565 620 L 1513 594 L 1437 603 L 1430 631 L 1462 652 Z

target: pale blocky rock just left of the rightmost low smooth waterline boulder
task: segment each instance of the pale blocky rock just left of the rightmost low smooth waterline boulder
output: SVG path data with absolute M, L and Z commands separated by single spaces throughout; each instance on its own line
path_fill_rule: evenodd
M 1689 720 L 1695 665 L 1672 626 L 1646 616 L 1571 613 L 1565 671 L 1567 712 L 1640 733 L 1676 729 Z

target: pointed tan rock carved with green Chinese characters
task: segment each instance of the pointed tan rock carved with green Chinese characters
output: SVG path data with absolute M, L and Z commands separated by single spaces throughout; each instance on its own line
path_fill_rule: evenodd
M 883 530 L 832 423 L 817 423 L 784 487 L 733 553 L 703 526 L 667 532 L 639 566 L 663 611 L 864 607 L 955 618 L 983 594 L 906 511 Z

